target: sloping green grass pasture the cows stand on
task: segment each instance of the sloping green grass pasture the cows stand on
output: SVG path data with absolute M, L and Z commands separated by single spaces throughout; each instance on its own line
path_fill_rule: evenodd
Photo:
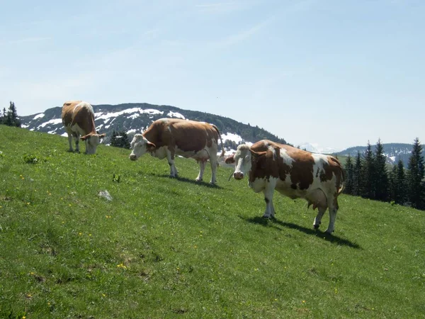
M 0 318 L 425 318 L 424 212 L 342 195 L 324 235 L 229 168 L 67 148 L 0 125 Z

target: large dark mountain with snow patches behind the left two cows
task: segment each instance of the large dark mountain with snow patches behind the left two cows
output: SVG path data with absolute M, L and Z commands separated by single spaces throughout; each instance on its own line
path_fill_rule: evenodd
M 210 113 L 183 110 L 174 106 L 158 106 L 149 103 L 124 103 L 118 105 L 94 105 L 96 130 L 106 133 L 103 143 L 111 141 L 113 130 L 125 131 L 130 138 L 135 133 L 142 133 L 159 118 L 183 118 L 193 121 L 208 122 L 217 125 L 222 134 L 223 143 L 229 152 L 235 150 L 242 142 L 257 142 L 267 139 L 286 143 L 283 138 L 269 133 L 258 126 L 243 124 L 232 118 Z M 42 113 L 20 116 L 23 128 L 67 136 L 62 125 L 62 107 L 48 108 Z

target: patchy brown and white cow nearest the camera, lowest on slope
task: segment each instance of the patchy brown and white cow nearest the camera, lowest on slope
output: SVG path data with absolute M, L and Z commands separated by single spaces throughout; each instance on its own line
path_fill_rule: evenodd
M 319 228 L 324 212 L 329 208 L 327 233 L 334 231 L 337 198 L 344 189 L 344 171 L 338 159 L 314 154 L 270 140 L 254 145 L 239 145 L 226 163 L 234 163 L 234 179 L 249 174 L 249 186 L 256 193 L 263 191 L 266 211 L 263 217 L 274 217 L 274 190 L 289 198 L 305 198 L 308 206 L 318 208 L 314 228 Z

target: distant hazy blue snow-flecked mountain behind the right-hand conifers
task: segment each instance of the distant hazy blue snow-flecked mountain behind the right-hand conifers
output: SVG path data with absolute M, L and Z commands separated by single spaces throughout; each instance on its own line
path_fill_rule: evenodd
M 402 159 L 402 162 L 404 164 L 404 167 L 407 167 L 407 164 L 409 162 L 409 157 L 412 154 L 412 144 L 406 144 L 406 143 L 387 143 L 382 144 L 384 147 L 384 153 L 387 157 L 387 163 L 390 164 L 396 164 L 399 159 Z M 372 145 L 373 152 L 375 151 L 376 145 Z M 355 147 L 349 147 L 346 150 L 343 150 L 341 152 L 336 152 L 335 155 L 341 155 L 341 156 L 348 156 L 351 155 L 352 157 L 357 155 L 357 152 L 360 152 L 361 154 L 364 154 L 366 150 L 366 146 L 355 146 Z M 422 152 L 422 156 L 425 156 L 425 150 Z

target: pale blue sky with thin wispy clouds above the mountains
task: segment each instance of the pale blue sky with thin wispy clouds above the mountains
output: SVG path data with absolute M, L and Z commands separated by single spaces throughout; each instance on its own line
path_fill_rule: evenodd
M 300 145 L 425 142 L 423 0 L 0 0 L 0 108 L 152 103 Z

